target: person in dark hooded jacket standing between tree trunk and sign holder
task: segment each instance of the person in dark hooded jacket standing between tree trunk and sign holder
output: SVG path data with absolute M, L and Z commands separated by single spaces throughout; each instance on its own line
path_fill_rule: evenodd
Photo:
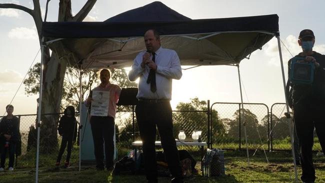
M 67 143 L 67 154 L 64 163 L 64 167 L 70 166 L 70 156 L 71 156 L 71 148 L 72 144 L 75 141 L 76 134 L 77 134 L 77 121 L 74 117 L 75 109 L 73 106 L 67 106 L 64 109 L 64 115 L 60 118 L 57 130 L 58 134 L 62 136 L 60 150 L 57 155 L 56 159 L 56 166 L 60 165 L 61 157 L 64 152 Z

